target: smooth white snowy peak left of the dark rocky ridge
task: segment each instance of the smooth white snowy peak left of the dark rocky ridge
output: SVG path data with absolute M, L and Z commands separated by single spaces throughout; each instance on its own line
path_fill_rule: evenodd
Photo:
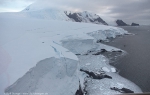
M 64 11 L 46 7 L 46 8 L 37 8 L 34 4 L 29 5 L 25 8 L 22 13 L 24 13 L 27 17 L 36 18 L 36 19 L 46 19 L 46 20 L 71 20 L 66 16 Z

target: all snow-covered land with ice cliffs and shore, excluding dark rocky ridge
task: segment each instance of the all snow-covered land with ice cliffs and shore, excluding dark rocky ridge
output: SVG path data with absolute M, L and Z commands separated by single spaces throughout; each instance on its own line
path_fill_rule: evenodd
M 0 95 L 142 92 L 102 55 L 125 51 L 98 42 L 129 34 L 126 30 L 75 22 L 65 11 L 35 9 L 0 14 Z

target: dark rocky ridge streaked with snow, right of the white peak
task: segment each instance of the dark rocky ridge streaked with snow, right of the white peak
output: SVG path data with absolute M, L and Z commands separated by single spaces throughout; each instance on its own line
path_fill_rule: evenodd
M 77 12 L 77 13 L 69 13 L 65 11 L 65 14 L 76 22 L 86 22 L 86 23 L 95 23 L 95 24 L 103 24 L 108 25 L 100 16 L 96 14 L 92 14 L 89 12 Z

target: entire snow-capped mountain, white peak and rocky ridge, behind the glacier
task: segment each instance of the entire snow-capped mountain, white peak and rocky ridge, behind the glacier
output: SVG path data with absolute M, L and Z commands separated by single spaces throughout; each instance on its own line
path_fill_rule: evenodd
M 70 12 L 54 9 L 50 7 L 36 8 L 34 4 L 25 8 L 22 12 L 25 12 L 27 16 L 41 19 L 52 19 L 52 20 L 66 20 L 74 22 L 94 23 L 108 25 L 99 15 L 84 12 Z

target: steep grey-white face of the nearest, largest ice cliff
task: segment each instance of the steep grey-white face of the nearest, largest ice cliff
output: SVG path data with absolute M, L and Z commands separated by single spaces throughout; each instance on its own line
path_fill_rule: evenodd
M 28 92 L 73 95 L 79 86 L 77 63 L 78 61 L 68 58 L 51 57 L 41 60 L 23 77 L 8 87 L 6 92 L 21 93 L 21 95 Z

